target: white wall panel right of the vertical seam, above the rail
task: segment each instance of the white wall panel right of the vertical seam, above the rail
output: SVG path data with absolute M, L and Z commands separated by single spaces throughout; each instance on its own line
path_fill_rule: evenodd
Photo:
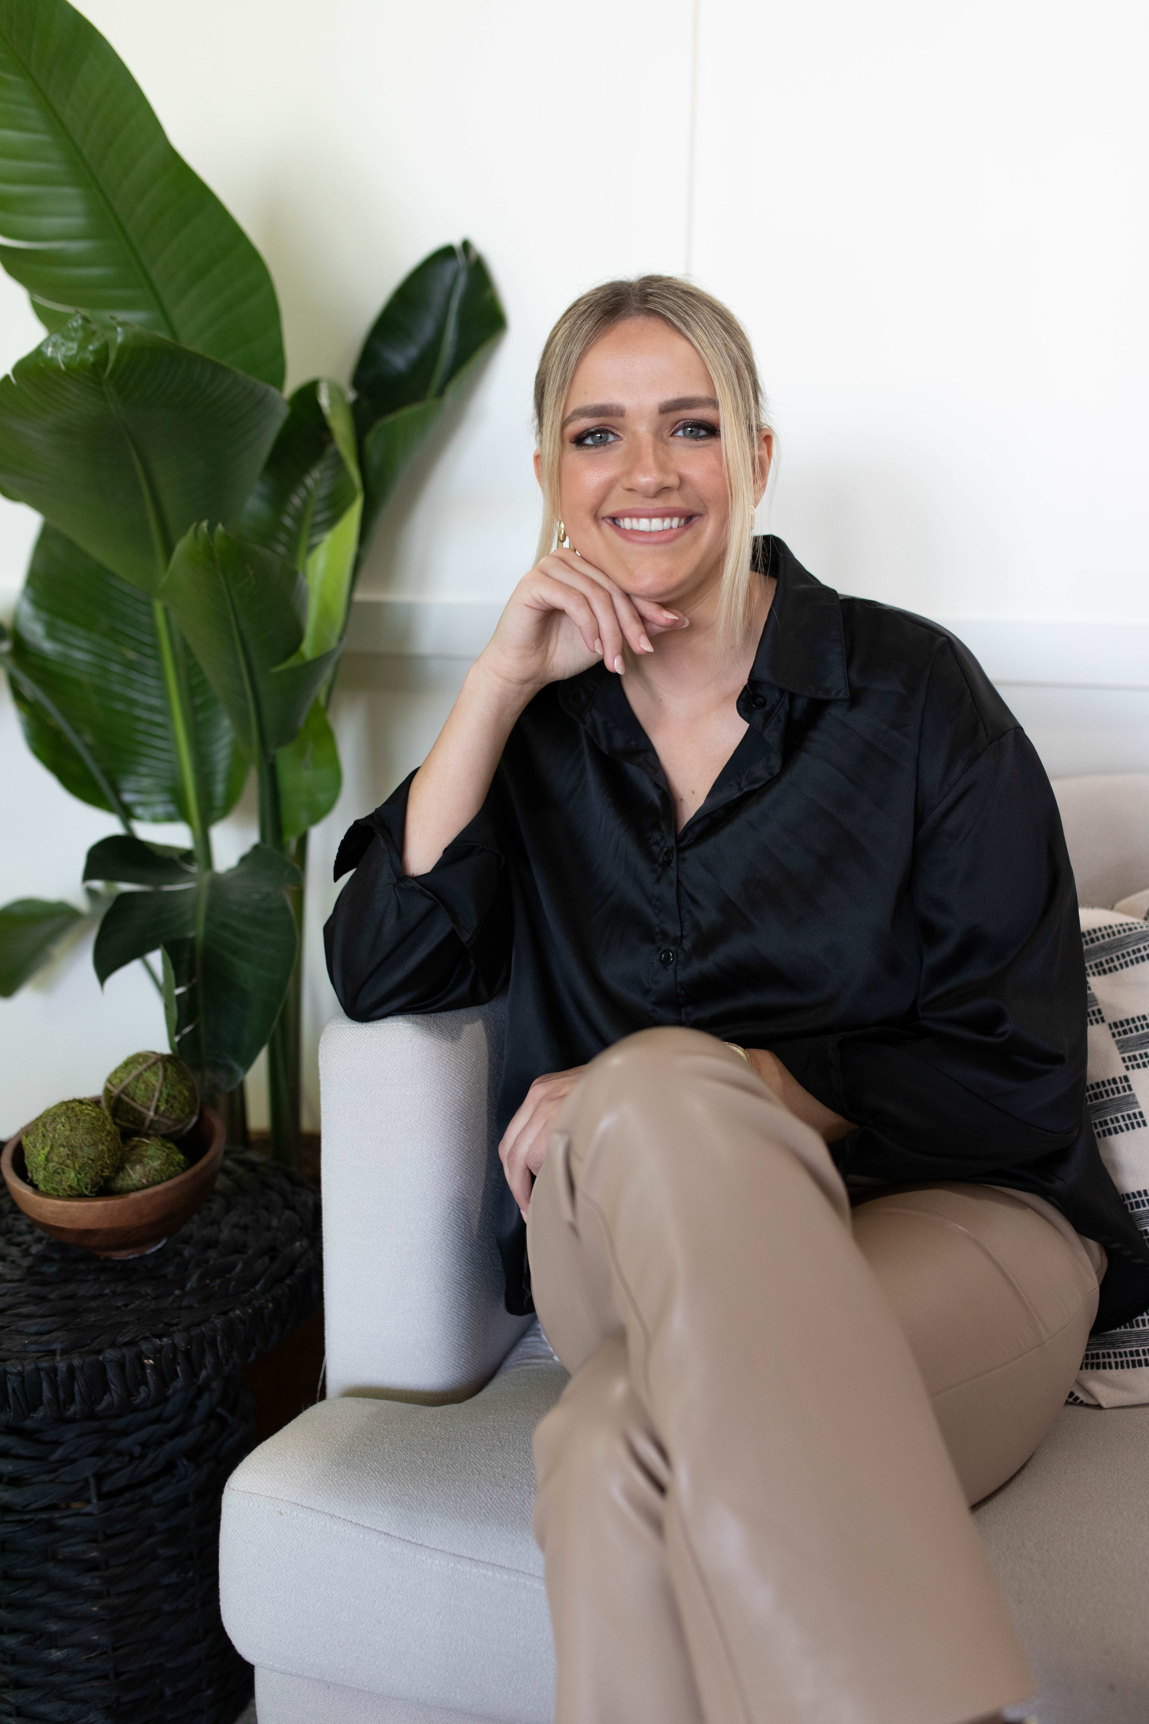
M 1149 615 L 1144 5 L 701 0 L 691 264 L 851 591 Z

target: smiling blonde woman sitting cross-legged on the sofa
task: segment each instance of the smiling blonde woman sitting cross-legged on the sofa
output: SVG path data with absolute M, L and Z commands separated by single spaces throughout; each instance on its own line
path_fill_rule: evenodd
M 1149 1303 L 1053 793 L 958 641 L 753 540 L 725 307 L 584 295 L 536 415 L 539 560 L 345 838 L 327 953 L 358 1019 L 506 990 L 508 1303 L 572 1372 L 556 1719 L 999 1717 L 1032 1679 L 966 1503 L 1065 1400 L 1108 1257 L 1102 1321 Z

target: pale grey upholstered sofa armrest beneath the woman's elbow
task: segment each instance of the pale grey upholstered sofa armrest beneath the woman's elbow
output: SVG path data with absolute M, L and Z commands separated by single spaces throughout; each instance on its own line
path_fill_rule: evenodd
M 503 1002 L 319 1048 L 327 1395 L 463 1400 L 529 1326 L 503 1307 L 493 1112 Z

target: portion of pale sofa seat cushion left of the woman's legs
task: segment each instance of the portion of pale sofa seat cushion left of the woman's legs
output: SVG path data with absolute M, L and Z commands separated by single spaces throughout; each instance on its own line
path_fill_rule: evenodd
M 524 1352 L 472 1400 L 339 1396 L 248 1455 L 220 1524 L 220 1605 L 245 1658 L 550 1724 L 555 1653 L 531 1533 L 531 1434 L 567 1372 L 550 1348 Z

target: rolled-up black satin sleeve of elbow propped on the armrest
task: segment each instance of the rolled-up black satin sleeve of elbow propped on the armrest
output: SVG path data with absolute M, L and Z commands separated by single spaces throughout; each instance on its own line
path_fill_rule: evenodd
M 427 874 L 403 872 L 412 776 L 346 831 L 334 878 L 353 869 L 324 928 L 327 974 L 348 1017 L 482 1005 L 510 967 L 512 903 L 494 793 Z

